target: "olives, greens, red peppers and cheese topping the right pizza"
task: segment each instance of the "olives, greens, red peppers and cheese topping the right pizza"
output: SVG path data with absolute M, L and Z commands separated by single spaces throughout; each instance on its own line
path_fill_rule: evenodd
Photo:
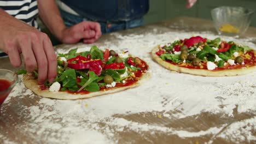
M 181 47 L 179 51 L 177 47 Z M 239 69 L 256 65 L 255 52 L 250 47 L 238 45 L 233 41 L 222 41 L 220 38 L 210 40 L 196 36 L 176 40 L 159 47 L 156 55 L 163 61 L 185 68 L 207 69 L 207 62 L 217 65 L 214 70 Z

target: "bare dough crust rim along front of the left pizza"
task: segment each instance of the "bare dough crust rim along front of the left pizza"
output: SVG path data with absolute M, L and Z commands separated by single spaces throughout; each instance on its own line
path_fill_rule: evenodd
M 28 76 L 28 75 L 24 75 L 23 81 L 27 88 L 31 89 L 31 91 L 33 91 L 40 97 L 71 100 L 71 99 L 86 99 L 86 98 L 96 97 L 99 95 L 125 91 L 126 89 L 137 87 L 137 86 L 141 85 L 142 83 L 147 81 L 149 78 L 150 78 L 150 73 L 147 72 L 147 73 L 143 74 L 143 76 L 140 77 L 140 79 L 136 83 L 133 83 L 133 85 L 125 86 L 125 87 L 117 87 L 117 88 L 114 87 L 114 88 L 108 89 L 107 91 L 91 92 L 89 94 L 79 94 L 79 93 L 72 94 L 72 93 L 68 93 L 65 91 L 64 92 L 61 92 L 61 91 L 50 92 L 48 89 L 41 90 L 37 83 L 37 80 L 30 79 L 30 76 Z

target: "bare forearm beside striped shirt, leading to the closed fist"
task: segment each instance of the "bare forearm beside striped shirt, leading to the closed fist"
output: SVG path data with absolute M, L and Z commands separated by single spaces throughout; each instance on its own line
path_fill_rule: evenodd
M 66 28 L 60 11 L 54 0 L 38 0 L 38 10 L 40 19 L 48 27 L 55 37 L 62 41 L 62 32 Z

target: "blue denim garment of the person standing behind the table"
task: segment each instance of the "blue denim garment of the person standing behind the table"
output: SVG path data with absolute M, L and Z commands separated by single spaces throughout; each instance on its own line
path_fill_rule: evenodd
M 60 9 L 61 16 L 65 22 L 65 25 L 67 27 L 71 27 L 79 22 L 82 21 L 92 21 L 89 19 L 86 19 L 85 17 L 73 15 L 70 13 L 67 13 L 66 11 L 63 11 Z M 135 19 L 130 21 L 118 21 L 118 22 L 99 22 L 101 25 L 101 33 L 110 33 L 115 31 L 120 31 L 123 29 L 138 27 L 143 25 L 143 19 Z

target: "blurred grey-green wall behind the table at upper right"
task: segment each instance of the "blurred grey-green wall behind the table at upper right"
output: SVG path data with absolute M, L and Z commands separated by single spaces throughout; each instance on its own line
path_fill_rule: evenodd
M 256 9 L 255 0 L 197 0 L 190 8 L 185 8 L 187 0 L 150 0 L 149 12 L 144 16 L 144 23 L 154 23 L 177 16 L 191 16 L 211 20 L 211 9 L 220 6 L 236 6 Z M 251 25 L 256 27 L 256 14 L 252 17 Z

